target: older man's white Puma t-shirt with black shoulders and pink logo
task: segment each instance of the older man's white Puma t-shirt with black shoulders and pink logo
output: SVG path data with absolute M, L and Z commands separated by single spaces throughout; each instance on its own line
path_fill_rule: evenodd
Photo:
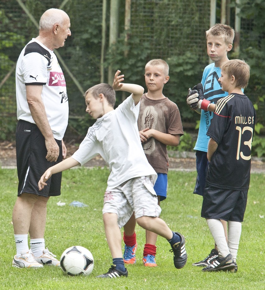
M 61 140 L 68 123 L 68 97 L 63 71 L 54 52 L 33 38 L 16 64 L 17 119 L 35 123 L 26 98 L 26 85 L 43 85 L 41 98 L 53 137 Z

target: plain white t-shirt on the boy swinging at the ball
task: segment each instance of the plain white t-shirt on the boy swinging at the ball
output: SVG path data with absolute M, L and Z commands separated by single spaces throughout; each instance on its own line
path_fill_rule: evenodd
M 156 181 L 156 172 L 147 161 L 140 141 L 139 108 L 140 102 L 135 106 L 129 96 L 117 109 L 96 120 L 72 155 L 83 165 L 100 154 L 109 164 L 109 189 L 138 176 L 151 175 L 152 181 Z

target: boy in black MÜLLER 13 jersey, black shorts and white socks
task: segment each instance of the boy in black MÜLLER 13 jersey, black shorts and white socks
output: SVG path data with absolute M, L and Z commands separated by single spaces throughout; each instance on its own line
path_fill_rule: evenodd
M 219 81 L 228 96 L 217 101 L 211 125 L 206 186 L 201 216 L 218 247 L 219 255 L 202 271 L 237 271 L 236 256 L 241 222 L 250 181 L 251 143 L 255 109 L 242 93 L 249 81 L 249 65 L 244 60 L 228 60 L 221 65 Z M 220 220 L 228 222 L 228 242 Z

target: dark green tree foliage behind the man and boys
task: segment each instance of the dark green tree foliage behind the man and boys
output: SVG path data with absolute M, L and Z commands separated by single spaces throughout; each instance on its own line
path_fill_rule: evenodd
M 42 13 L 51 7 L 51 2 L 48 0 L 24 0 L 23 3 L 37 22 Z M 62 3 L 62 0 L 53 0 L 52 6 L 59 8 Z M 126 81 L 145 87 L 144 67 L 146 62 L 152 58 L 163 58 L 170 66 L 170 80 L 164 87 L 164 94 L 178 105 L 183 122 L 196 123 L 198 115 L 188 108 L 186 95 L 189 87 L 193 87 L 201 81 L 203 69 L 208 63 L 206 45 L 203 51 L 198 47 L 206 44 L 205 30 L 208 29 L 209 19 L 203 16 L 205 14 L 202 14 L 202 10 L 205 10 L 205 7 L 208 9 L 209 1 L 132 1 L 131 29 L 124 31 L 125 0 L 120 0 L 119 37 L 116 43 L 108 47 L 109 3 L 107 1 L 104 81 L 107 81 L 108 66 L 112 65 L 114 70 L 122 70 Z M 220 3 L 221 1 L 217 1 L 218 7 Z M 255 108 L 258 109 L 260 124 L 264 123 L 262 112 L 265 99 L 263 93 L 265 82 L 264 5 L 262 0 L 241 0 L 242 21 L 248 22 L 251 28 L 241 31 L 240 55 L 229 54 L 230 59 L 243 58 L 251 66 L 251 77 L 245 91 Z M 235 0 L 231 0 L 231 9 L 234 7 Z M 65 46 L 58 52 L 81 84 L 82 89 L 86 91 L 92 85 L 100 82 L 102 0 L 69 0 L 63 10 L 70 17 L 72 36 L 67 38 Z M 216 22 L 220 22 L 218 14 Z M 232 22 L 231 26 L 233 26 Z M 0 24 L 1 81 L 15 64 L 26 42 L 38 35 L 38 28 L 32 24 L 15 0 L 1 1 Z M 126 33 L 129 36 L 127 42 L 125 41 Z M 63 71 L 67 82 L 71 117 L 67 131 L 70 134 L 83 136 L 86 134 L 87 126 L 91 125 L 93 120 L 89 116 L 84 117 L 83 96 L 67 71 L 64 69 Z M 15 115 L 14 76 L 8 79 L 0 93 L 1 111 Z M 118 93 L 116 105 L 122 101 L 122 98 L 123 95 Z M 6 102 L 3 102 L 3 99 Z M 12 100 L 12 105 L 7 106 L 7 100 L 9 102 Z M 6 124 L 2 123 L 2 126 L 5 128 Z M 5 133 L 0 138 L 10 137 L 13 133 L 13 127 L 7 127 L 6 130 L 1 130 L 1 133 Z M 262 125 L 258 125 L 257 129 L 263 132 Z

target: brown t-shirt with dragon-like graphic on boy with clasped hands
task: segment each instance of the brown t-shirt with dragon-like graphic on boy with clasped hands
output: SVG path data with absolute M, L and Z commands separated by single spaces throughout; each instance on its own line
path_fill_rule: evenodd
M 138 117 L 139 131 L 150 128 L 182 136 L 184 134 L 178 106 L 168 98 L 152 100 L 143 94 Z M 146 158 L 157 173 L 167 173 L 169 168 L 166 145 L 155 138 L 142 143 Z

